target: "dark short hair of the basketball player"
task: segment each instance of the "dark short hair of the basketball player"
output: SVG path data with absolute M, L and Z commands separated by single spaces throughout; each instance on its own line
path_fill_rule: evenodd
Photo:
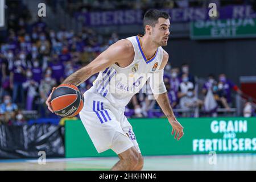
M 144 14 L 143 26 L 146 27 L 146 25 L 150 25 L 151 27 L 154 27 L 155 24 L 158 23 L 158 18 L 170 19 L 171 17 L 164 11 L 150 9 Z

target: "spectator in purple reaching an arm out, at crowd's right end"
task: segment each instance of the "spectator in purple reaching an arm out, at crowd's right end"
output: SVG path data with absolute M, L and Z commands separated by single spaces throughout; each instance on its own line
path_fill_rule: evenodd
M 226 101 L 228 102 L 229 106 L 231 106 L 232 105 L 232 98 L 231 98 L 232 90 L 236 91 L 238 94 L 242 94 L 242 91 L 232 81 L 228 80 L 226 78 L 226 75 L 223 73 L 218 76 L 218 80 L 220 82 L 222 82 L 223 88 L 226 92 L 226 96 L 225 96 Z

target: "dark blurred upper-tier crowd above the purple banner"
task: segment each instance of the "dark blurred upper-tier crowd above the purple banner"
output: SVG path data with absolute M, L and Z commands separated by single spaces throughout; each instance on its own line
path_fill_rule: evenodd
M 52 1 L 48 1 L 51 5 L 56 5 Z M 129 1 L 129 0 L 68 0 L 64 1 L 65 9 L 70 13 L 76 12 L 89 12 L 89 11 L 112 11 L 122 9 L 142 9 L 147 10 L 155 9 L 173 9 L 173 8 L 187 8 L 187 7 L 208 7 L 209 3 L 216 3 L 217 6 L 226 5 L 253 5 L 254 0 L 142 0 L 142 1 Z

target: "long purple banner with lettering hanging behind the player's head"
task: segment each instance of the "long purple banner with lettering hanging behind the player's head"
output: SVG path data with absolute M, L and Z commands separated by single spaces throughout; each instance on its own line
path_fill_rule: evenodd
M 162 9 L 170 14 L 171 22 L 191 22 L 210 19 L 210 8 L 189 7 L 186 9 Z M 256 13 L 250 5 L 217 7 L 218 19 L 256 18 Z M 76 18 L 86 26 L 114 26 L 127 24 L 142 24 L 142 10 L 117 10 L 90 13 L 77 13 Z

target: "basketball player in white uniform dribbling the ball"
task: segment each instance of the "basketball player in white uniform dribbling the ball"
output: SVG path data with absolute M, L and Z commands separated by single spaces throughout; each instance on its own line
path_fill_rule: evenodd
M 124 111 L 131 97 L 148 80 L 145 73 L 159 75 L 156 84 L 150 85 L 152 92 L 172 126 L 172 135 L 176 132 L 177 140 L 183 137 L 183 127 L 175 118 L 163 82 L 163 70 L 169 56 L 161 46 L 167 46 L 170 16 L 163 11 L 148 10 L 144 14 L 143 23 L 143 36 L 132 36 L 112 44 L 63 82 L 79 86 L 100 72 L 92 88 L 84 93 L 85 104 L 80 111 L 80 118 L 98 153 L 112 149 L 119 156 L 112 170 L 143 168 L 143 157 Z M 118 74 L 135 81 L 118 78 Z M 116 90 L 114 93 L 110 92 L 113 88 Z M 50 111 L 51 95 L 46 101 Z

